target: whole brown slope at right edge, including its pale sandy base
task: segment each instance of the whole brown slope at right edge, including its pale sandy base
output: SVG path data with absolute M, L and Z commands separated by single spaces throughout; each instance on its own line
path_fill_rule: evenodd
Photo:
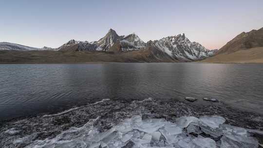
M 218 50 L 215 56 L 201 62 L 263 63 L 263 28 L 239 34 Z

